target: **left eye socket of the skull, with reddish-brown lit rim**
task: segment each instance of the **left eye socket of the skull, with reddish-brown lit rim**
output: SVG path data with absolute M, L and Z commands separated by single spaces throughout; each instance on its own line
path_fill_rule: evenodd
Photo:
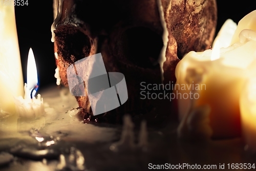
M 91 52 L 90 38 L 73 26 L 59 26 L 55 30 L 59 54 L 68 63 L 87 57 Z

